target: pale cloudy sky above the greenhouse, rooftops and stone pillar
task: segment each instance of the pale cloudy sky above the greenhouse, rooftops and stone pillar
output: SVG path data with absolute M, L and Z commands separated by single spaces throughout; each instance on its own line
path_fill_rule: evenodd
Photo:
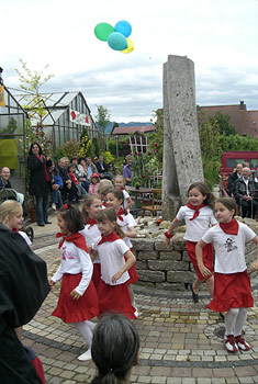
M 258 110 L 258 0 L 8 0 L 1 1 L 0 66 L 19 88 L 19 58 L 32 71 L 49 65 L 43 92 L 81 91 L 111 121 L 149 122 L 162 108 L 168 55 L 194 63 L 197 104 Z M 101 22 L 132 25 L 131 54 L 94 35 Z

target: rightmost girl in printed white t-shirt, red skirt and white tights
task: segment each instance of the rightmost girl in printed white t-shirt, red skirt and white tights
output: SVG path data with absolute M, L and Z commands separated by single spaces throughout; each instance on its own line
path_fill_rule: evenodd
M 197 245 L 198 266 L 204 278 L 212 271 L 203 263 L 203 247 L 212 242 L 215 248 L 214 296 L 207 307 L 227 312 L 224 339 L 227 351 L 248 351 L 250 346 L 242 337 L 242 330 L 247 308 L 254 306 L 254 298 L 245 261 L 245 242 L 251 240 L 257 245 L 257 261 L 250 266 L 250 271 L 258 270 L 258 236 L 247 225 L 233 218 L 236 213 L 234 199 L 218 199 L 214 212 L 218 225 L 210 228 Z

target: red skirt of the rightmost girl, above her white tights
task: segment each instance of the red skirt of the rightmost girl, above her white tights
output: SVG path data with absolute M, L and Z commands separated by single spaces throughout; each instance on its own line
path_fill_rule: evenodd
M 254 306 L 250 279 L 247 270 L 237 273 L 214 273 L 214 294 L 207 308 L 215 312 L 228 312 L 231 308 Z

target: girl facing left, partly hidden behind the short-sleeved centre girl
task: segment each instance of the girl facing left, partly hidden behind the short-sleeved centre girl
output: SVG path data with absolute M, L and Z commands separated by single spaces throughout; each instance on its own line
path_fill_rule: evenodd
M 136 230 L 135 230 L 135 219 L 131 213 L 127 213 L 126 210 L 122 208 L 124 201 L 123 191 L 121 190 L 112 190 L 108 192 L 106 194 L 106 204 L 108 206 L 112 207 L 116 213 L 116 223 L 122 228 L 125 237 L 123 238 L 126 246 L 130 248 L 131 251 L 133 251 L 132 242 L 130 241 L 130 238 L 136 237 Z M 134 301 L 134 291 L 132 285 L 138 281 L 138 274 L 135 270 L 135 264 L 130 269 L 130 281 L 128 283 L 128 292 L 130 297 L 132 301 L 132 305 L 135 307 L 135 301 Z M 137 312 L 136 312 L 137 315 Z

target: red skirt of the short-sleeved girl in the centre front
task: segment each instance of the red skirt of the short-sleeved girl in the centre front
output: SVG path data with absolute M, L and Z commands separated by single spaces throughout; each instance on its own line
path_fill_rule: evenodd
M 100 280 L 98 289 L 100 314 L 114 312 L 123 314 L 131 319 L 136 318 L 134 315 L 135 308 L 131 303 L 126 283 L 110 285 L 105 284 L 103 280 Z

